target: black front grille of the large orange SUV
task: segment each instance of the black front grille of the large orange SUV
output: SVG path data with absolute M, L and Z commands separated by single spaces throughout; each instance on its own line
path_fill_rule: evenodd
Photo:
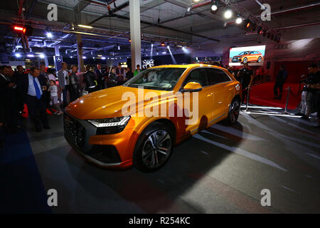
M 69 115 L 63 116 L 63 128 L 65 137 L 68 138 L 73 145 L 81 148 L 85 145 L 85 128 Z

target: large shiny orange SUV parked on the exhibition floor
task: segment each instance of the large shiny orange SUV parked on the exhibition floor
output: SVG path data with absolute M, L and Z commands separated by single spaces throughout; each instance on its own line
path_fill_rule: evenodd
M 225 68 L 156 66 L 70 103 L 64 135 L 96 165 L 151 172 L 178 142 L 220 120 L 235 123 L 239 111 L 240 84 Z

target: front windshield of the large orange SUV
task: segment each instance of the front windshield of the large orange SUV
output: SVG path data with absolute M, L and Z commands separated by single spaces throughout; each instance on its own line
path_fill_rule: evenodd
M 124 83 L 123 86 L 144 86 L 153 90 L 173 90 L 186 68 L 149 68 Z

